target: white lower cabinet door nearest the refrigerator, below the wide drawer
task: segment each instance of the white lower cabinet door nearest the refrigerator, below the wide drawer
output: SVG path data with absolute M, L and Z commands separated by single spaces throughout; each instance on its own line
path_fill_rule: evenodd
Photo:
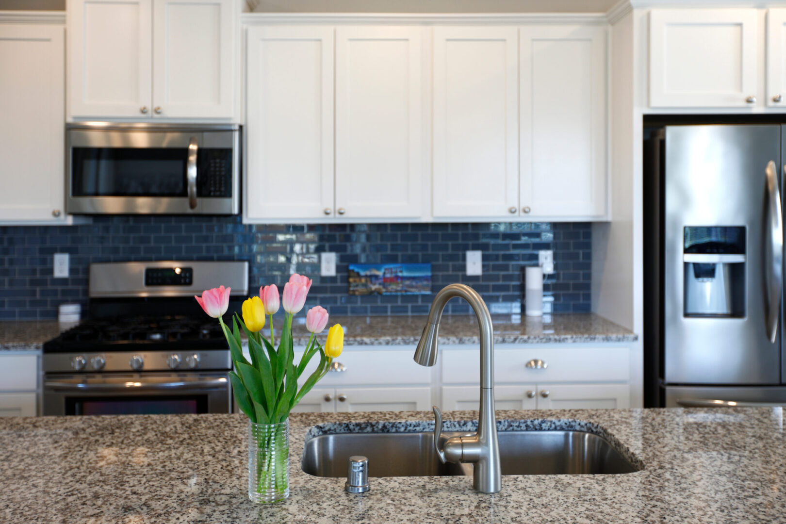
M 538 409 L 606 409 L 630 407 L 628 384 L 538 385 Z

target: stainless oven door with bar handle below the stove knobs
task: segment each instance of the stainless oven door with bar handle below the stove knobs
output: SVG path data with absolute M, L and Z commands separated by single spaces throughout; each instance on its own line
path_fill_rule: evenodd
M 226 373 L 47 375 L 44 415 L 229 413 Z

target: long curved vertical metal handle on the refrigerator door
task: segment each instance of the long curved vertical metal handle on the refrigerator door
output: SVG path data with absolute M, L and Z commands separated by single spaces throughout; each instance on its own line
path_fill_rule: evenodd
M 784 166 L 786 170 L 786 166 Z M 767 283 L 767 337 L 775 343 L 780 316 L 780 295 L 783 288 L 783 215 L 780 209 L 780 189 L 775 163 L 770 160 L 765 169 L 767 178 L 767 225 L 769 226 L 769 258 L 765 256 L 767 265 L 765 274 L 769 275 Z

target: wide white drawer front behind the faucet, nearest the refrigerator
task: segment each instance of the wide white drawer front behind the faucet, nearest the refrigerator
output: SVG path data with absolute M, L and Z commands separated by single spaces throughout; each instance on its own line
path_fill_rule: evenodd
M 479 351 L 444 350 L 443 383 L 478 383 Z M 527 368 L 542 361 L 545 368 Z M 494 350 L 495 383 L 627 382 L 627 347 L 535 347 Z

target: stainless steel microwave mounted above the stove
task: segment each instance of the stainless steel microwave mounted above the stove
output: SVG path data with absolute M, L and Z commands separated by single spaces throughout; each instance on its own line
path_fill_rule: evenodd
M 90 122 L 66 126 L 73 214 L 238 214 L 237 125 Z

